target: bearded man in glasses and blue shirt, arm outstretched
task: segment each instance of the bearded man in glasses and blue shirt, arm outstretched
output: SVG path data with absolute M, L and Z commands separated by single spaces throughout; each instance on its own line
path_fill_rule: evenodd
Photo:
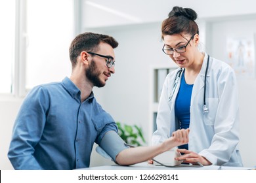
M 70 45 L 70 78 L 36 86 L 28 93 L 9 148 L 14 169 L 89 167 L 94 142 L 119 165 L 146 161 L 188 142 L 188 129 L 175 131 L 167 141 L 150 147 L 129 148 L 118 136 L 115 121 L 92 92 L 115 73 L 117 46 L 108 35 L 78 35 Z

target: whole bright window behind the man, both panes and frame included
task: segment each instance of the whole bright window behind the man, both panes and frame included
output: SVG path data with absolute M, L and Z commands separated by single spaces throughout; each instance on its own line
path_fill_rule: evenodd
M 74 0 L 0 1 L 0 22 L 1 94 L 21 97 L 70 75 Z

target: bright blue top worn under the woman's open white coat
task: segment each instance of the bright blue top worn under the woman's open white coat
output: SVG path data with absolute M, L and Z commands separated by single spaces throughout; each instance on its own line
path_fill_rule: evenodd
M 180 129 L 187 129 L 190 124 L 190 101 L 193 84 L 186 84 L 184 73 L 181 76 L 181 86 L 175 100 L 175 116 L 179 120 Z M 188 144 L 179 146 L 188 149 Z

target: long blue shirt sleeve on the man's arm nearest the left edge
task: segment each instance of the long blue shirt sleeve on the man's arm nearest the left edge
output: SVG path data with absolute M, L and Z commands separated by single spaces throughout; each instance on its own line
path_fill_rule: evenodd
M 49 99 L 42 87 L 34 88 L 24 99 L 12 130 L 8 157 L 14 169 L 42 169 L 33 156 L 41 139 Z

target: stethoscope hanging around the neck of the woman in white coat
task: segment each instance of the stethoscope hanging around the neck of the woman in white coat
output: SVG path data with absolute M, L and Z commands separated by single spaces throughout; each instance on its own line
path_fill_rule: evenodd
M 209 58 L 210 56 L 208 55 L 207 58 L 207 64 L 206 64 L 206 69 L 205 69 L 205 76 L 204 76 L 204 88 L 203 88 L 203 112 L 209 112 L 208 107 L 206 106 L 206 102 L 205 102 L 205 91 L 206 91 L 206 77 L 207 77 L 207 72 L 208 72 L 208 68 L 209 68 Z M 176 76 L 175 76 L 175 80 L 174 80 L 174 84 L 173 84 L 173 90 L 171 90 L 171 94 L 169 95 L 169 99 L 168 101 L 171 101 L 171 99 L 173 98 L 173 95 L 175 93 L 175 90 L 177 88 L 179 79 L 181 78 L 181 73 L 182 73 L 182 68 L 179 69 L 179 71 L 177 72 Z

